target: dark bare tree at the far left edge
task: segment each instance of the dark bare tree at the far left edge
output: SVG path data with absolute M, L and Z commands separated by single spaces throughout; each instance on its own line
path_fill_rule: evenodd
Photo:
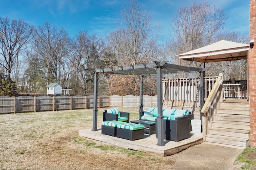
M 32 26 L 23 20 L 0 17 L 0 66 L 10 78 L 14 67 L 18 67 L 18 57 L 32 39 Z

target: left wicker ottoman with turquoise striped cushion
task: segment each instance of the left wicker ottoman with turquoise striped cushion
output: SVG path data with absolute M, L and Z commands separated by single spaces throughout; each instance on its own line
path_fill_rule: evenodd
M 126 124 L 126 122 L 116 120 L 103 121 L 101 125 L 101 134 L 116 137 L 116 127 L 118 124 Z

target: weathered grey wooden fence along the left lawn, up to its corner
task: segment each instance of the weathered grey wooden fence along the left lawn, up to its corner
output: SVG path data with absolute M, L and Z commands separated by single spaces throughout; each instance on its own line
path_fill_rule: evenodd
M 98 97 L 98 107 L 109 107 L 109 96 Z M 0 96 L 0 113 L 93 108 L 94 96 Z

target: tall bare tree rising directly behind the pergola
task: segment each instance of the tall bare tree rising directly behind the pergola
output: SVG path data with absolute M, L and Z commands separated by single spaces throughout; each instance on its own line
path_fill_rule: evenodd
M 115 62 L 111 63 L 112 66 L 115 64 L 136 65 L 156 60 L 154 55 L 157 53 L 158 30 L 152 27 L 150 22 L 150 14 L 142 9 L 136 0 L 124 5 L 116 30 L 107 36 L 108 46 L 112 49 L 112 53 L 105 57 L 114 57 L 114 60 L 108 60 Z M 108 79 L 109 91 L 119 95 L 138 95 L 139 84 L 138 76 L 110 75 Z M 147 88 L 146 84 L 144 88 Z M 151 90 L 152 87 L 148 89 L 150 93 L 154 93 Z

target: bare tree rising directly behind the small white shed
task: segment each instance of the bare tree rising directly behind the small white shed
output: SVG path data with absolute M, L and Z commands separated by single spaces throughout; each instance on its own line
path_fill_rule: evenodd
M 66 84 L 69 41 L 68 33 L 63 28 L 57 29 L 48 22 L 35 31 L 34 47 L 40 64 L 46 69 L 46 85 L 50 82 Z

